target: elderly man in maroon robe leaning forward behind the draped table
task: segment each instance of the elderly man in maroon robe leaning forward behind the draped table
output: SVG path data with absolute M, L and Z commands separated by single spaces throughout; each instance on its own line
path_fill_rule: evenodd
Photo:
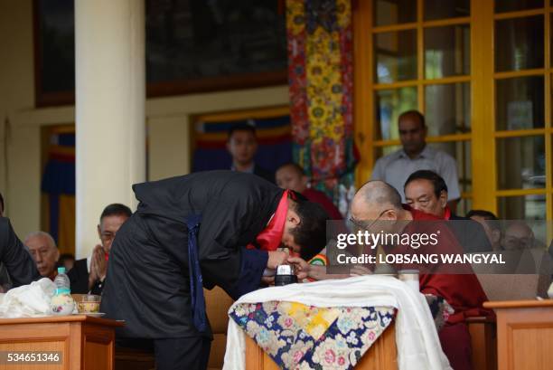
M 462 251 L 455 241 L 454 234 L 449 232 L 448 228 L 439 222 L 440 220 L 434 215 L 422 213 L 407 204 L 401 204 L 398 191 L 382 181 L 370 181 L 363 185 L 351 203 L 351 221 L 367 231 L 372 233 L 413 232 L 408 230 L 415 229 L 418 225 L 420 228 L 439 230 L 440 241 L 443 242 L 443 245 L 438 246 L 440 250 Z M 384 247 L 384 251 L 391 254 L 407 252 L 410 249 L 409 245 Z M 288 261 L 295 264 L 300 279 L 314 278 L 317 272 L 320 273 L 322 270 L 320 266 L 308 265 L 297 258 L 289 258 Z M 359 272 L 360 269 L 357 271 Z M 455 370 L 472 369 L 471 337 L 465 318 L 489 313 L 482 308 L 487 298 L 480 282 L 473 273 L 421 273 L 419 283 L 422 293 L 442 297 L 455 309 L 455 313 L 447 319 L 438 335 L 452 367 Z

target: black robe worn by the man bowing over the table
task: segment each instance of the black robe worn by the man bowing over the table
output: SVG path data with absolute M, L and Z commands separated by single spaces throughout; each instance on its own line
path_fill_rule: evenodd
M 267 252 L 245 251 L 275 213 L 283 190 L 258 176 L 199 172 L 134 185 L 140 201 L 112 244 L 101 310 L 124 319 L 122 337 L 211 336 L 192 323 L 188 228 L 201 214 L 198 260 L 204 287 L 233 299 L 257 289 Z M 253 256 L 253 257 L 252 257 Z

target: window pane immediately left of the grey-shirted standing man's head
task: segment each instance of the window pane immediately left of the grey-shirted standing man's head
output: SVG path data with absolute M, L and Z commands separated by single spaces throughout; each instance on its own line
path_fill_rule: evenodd
M 399 138 L 398 117 L 406 110 L 417 109 L 417 88 L 376 91 L 375 103 L 378 122 L 378 125 L 375 125 L 375 138 L 377 140 Z

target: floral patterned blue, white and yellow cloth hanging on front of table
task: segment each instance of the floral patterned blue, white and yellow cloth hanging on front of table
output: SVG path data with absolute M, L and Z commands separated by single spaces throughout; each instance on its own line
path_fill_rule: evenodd
M 239 304 L 232 318 L 285 369 L 351 369 L 389 327 L 395 308 Z

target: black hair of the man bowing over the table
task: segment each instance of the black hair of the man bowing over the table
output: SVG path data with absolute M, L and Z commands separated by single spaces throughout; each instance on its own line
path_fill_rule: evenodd
M 309 261 L 326 246 L 326 222 L 330 217 L 321 204 L 309 202 L 303 196 L 296 196 L 291 204 L 300 223 L 290 232 L 301 247 L 300 256 Z

